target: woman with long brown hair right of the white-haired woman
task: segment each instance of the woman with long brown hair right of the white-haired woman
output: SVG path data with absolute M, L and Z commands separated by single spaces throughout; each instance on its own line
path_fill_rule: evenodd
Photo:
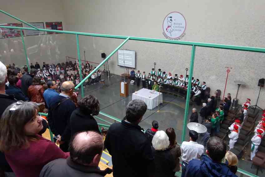
M 173 169 L 173 173 L 172 173 L 174 176 L 174 174 L 180 170 L 179 157 L 181 156 L 181 149 L 176 141 L 175 130 L 173 128 L 168 128 L 166 129 L 166 134 L 168 135 L 168 138 L 169 138 L 169 150 L 170 150 L 170 153 L 173 155 L 173 159 L 176 164 L 175 168 Z

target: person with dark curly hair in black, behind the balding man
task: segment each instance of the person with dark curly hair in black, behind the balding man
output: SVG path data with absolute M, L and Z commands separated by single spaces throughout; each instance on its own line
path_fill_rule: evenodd
M 61 139 L 71 139 L 75 133 L 80 131 L 96 131 L 100 133 L 97 121 L 93 115 L 98 115 L 100 104 L 96 97 L 85 96 L 78 101 L 78 108 L 74 110 L 70 117 L 70 122 L 66 127 L 66 136 Z

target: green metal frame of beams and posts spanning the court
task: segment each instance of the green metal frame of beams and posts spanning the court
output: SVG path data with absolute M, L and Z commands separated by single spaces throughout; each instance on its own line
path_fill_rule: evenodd
M 22 27 L 8 27 L 8 26 L 1 26 L 0 28 L 13 28 L 13 29 L 20 29 L 21 30 L 21 37 L 22 37 L 22 43 L 23 43 L 23 47 L 25 50 L 25 55 L 26 55 L 26 60 L 27 60 L 27 51 L 26 51 L 26 46 L 24 43 L 24 37 L 23 37 L 23 33 L 22 30 L 38 30 L 38 31 L 46 31 L 46 32 L 56 32 L 56 33 L 65 33 L 65 34 L 75 34 L 76 35 L 76 44 L 77 44 L 77 54 L 78 54 L 78 61 L 79 61 L 79 67 L 81 68 L 81 62 L 80 62 L 80 49 L 79 49 L 79 39 L 78 39 L 78 35 L 84 35 L 84 36 L 94 36 L 94 37 L 102 37 L 102 38 L 117 38 L 117 39 L 125 39 L 125 41 L 123 41 L 112 53 L 110 53 L 110 55 L 103 60 L 88 76 L 86 76 L 86 78 L 84 78 L 76 87 L 75 89 L 79 88 L 80 86 L 82 86 L 82 84 L 85 82 L 86 79 L 88 79 L 98 68 L 101 67 L 101 65 L 103 65 L 121 46 L 123 46 L 129 39 L 130 40 L 137 40 L 137 41 L 145 41 L 145 42 L 158 42 L 158 43 L 172 43 L 172 44 L 179 44 L 179 45 L 189 45 L 192 46 L 192 50 L 191 50 L 191 60 L 190 60 L 190 70 L 189 70 L 189 83 L 191 83 L 191 78 L 192 78 L 192 74 L 193 74 L 193 67 L 194 67 L 194 57 L 195 57 L 195 48 L 196 46 L 198 47 L 210 47 L 210 48 L 220 48 L 220 49 L 230 49 L 230 50 L 240 50 L 240 51 L 248 51 L 248 52 L 259 52 L 259 53 L 265 53 L 265 48 L 254 48 L 254 47 L 244 47 L 244 46 L 234 46 L 234 45 L 223 45 L 223 44 L 213 44 L 213 43 L 197 43 L 197 42 L 188 42 L 188 41 L 176 41 L 176 40 L 167 40 L 167 39 L 155 39 L 155 38 L 138 38 L 138 37 L 128 37 L 128 36 L 117 36 L 117 35 L 107 35 L 107 34 L 94 34 L 94 33 L 80 33 L 80 32 L 73 32 L 73 31 L 60 31 L 60 30 L 51 30 L 51 29 L 39 29 L 36 28 L 34 26 L 32 26 L 31 24 L 12 16 L 11 14 L 4 12 L 2 10 L 0 10 L 0 12 L 14 18 L 17 19 L 18 21 L 27 24 L 28 26 L 32 27 L 32 28 L 22 28 Z M 28 64 L 28 60 L 27 60 L 27 65 L 29 68 L 29 64 Z M 81 76 L 81 73 L 80 73 Z M 81 76 L 82 77 L 82 76 Z M 83 91 L 83 87 L 81 88 L 81 92 L 82 92 L 82 97 L 84 97 L 84 91 Z M 184 121 L 183 121 L 183 130 L 182 130 L 182 142 L 185 140 L 185 133 L 186 133 L 186 126 L 187 126 L 187 118 L 188 118 L 188 110 L 189 110 L 189 99 L 190 99 L 190 87 L 188 87 L 187 90 L 187 98 L 186 98 L 186 104 L 185 104 L 185 114 L 184 114 Z M 47 114 L 43 114 L 43 113 L 39 113 L 41 115 L 46 115 Z M 113 119 L 115 121 L 120 122 L 120 119 L 117 119 L 113 116 L 110 116 L 106 113 L 102 113 L 100 112 L 99 114 L 104 115 L 110 119 Z M 98 117 L 97 117 L 98 118 Z M 99 118 L 101 119 L 101 118 Z M 103 120 L 103 119 L 101 119 Z M 107 121 L 105 121 L 107 122 Z M 110 123 L 110 122 L 107 122 Z M 105 125 L 105 124 L 99 124 L 99 126 L 105 126 L 105 127 L 109 127 L 109 125 Z M 238 169 L 238 172 L 248 175 L 248 176 L 252 176 L 252 177 L 256 177 L 256 175 L 251 174 L 245 170 L 242 169 Z

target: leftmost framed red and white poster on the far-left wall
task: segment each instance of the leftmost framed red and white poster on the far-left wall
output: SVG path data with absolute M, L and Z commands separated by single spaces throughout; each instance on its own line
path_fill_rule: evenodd
M 22 23 L 5 23 L 0 24 L 2 26 L 13 26 L 13 27 L 22 27 Z M 1 38 L 12 38 L 12 37 L 20 37 L 20 29 L 12 29 L 12 28 L 0 28 Z M 23 30 L 22 33 L 24 34 Z

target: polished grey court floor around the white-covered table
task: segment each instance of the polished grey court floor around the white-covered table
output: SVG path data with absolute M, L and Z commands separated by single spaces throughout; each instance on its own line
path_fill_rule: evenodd
M 132 100 L 132 94 L 135 91 L 142 89 L 142 85 L 140 84 L 140 87 L 137 87 L 136 84 L 135 85 L 129 84 L 129 96 L 124 98 L 120 96 L 120 81 L 122 79 L 121 76 L 111 74 L 111 76 L 108 78 L 106 76 L 106 73 L 103 73 L 101 79 L 105 79 L 106 82 L 105 85 L 103 85 L 102 87 L 100 83 L 97 83 L 95 85 L 86 86 L 84 88 L 85 95 L 94 95 L 99 99 L 101 112 L 114 116 L 118 119 L 123 119 L 125 117 L 126 105 Z M 128 80 L 127 82 L 129 83 L 130 80 Z M 81 89 L 76 91 L 80 93 L 78 95 L 78 99 L 81 99 Z M 190 105 L 188 111 L 188 119 L 191 115 L 192 108 L 197 108 L 199 113 L 201 106 Z M 158 112 L 158 107 L 152 110 L 147 109 L 143 117 L 143 120 L 140 123 L 140 126 L 146 130 L 148 128 L 151 128 L 151 123 L 153 120 L 157 120 L 159 122 L 159 130 L 165 131 L 169 127 L 174 128 L 177 136 L 176 137 L 177 142 L 180 143 L 182 137 L 182 130 L 183 130 L 185 99 L 183 97 L 174 94 L 169 94 L 169 93 L 163 94 L 163 104 L 160 104 L 159 110 L 160 112 Z M 97 117 L 104 119 L 110 123 L 115 122 L 114 120 L 101 114 L 99 114 Z M 108 124 L 104 121 L 98 119 L 96 120 L 98 121 L 98 123 Z M 189 140 L 188 132 L 189 129 L 186 130 L 185 140 Z M 250 154 L 249 152 L 250 144 L 251 142 L 248 144 L 246 148 L 245 155 L 243 156 L 242 159 L 239 160 L 238 168 L 256 174 L 257 167 L 253 165 L 253 168 L 251 169 L 250 167 L 252 162 L 244 160 L 245 158 L 248 158 L 248 154 Z M 262 173 L 259 172 L 258 175 L 261 174 Z

